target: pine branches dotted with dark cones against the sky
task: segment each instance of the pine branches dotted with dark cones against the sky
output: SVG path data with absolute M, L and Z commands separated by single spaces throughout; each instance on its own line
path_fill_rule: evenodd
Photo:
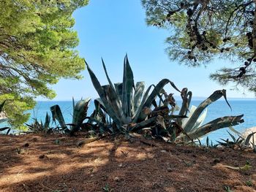
M 188 66 L 229 58 L 233 68 L 223 68 L 211 79 L 236 82 L 256 93 L 255 1 L 141 0 L 150 26 L 170 31 L 167 54 Z

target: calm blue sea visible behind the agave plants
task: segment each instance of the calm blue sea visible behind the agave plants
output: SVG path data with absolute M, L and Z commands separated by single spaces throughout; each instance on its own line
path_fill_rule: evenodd
M 178 105 L 181 106 L 181 101 L 177 101 Z M 201 101 L 192 101 L 192 105 L 198 106 Z M 244 131 L 246 128 L 256 126 L 256 100 L 230 100 L 230 105 L 232 111 L 227 106 L 224 100 L 216 101 L 208 107 L 208 112 L 206 115 L 206 120 L 203 124 L 208 123 L 215 118 L 220 118 L 227 115 L 241 115 L 244 114 L 244 123 L 239 126 L 234 126 L 237 131 Z M 45 120 L 46 112 L 51 115 L 50 107 L 54 104 L 59 104 L 61 111 L 64 115 L 66 123 L 72 122 L 72 101 L 38 101 L 37 106 L 34 110 L 31 110 L 31 119 L 29 123 L 33 121 L 32 118 L 37 118 L 38 120 Z M 91 112 L 94 110 L 94 103 L 91 102 L 89 106 L 88 115 L 91 115 Z M 208 134 L 208 137 L 215 142 L 219 138 L 227 139 L 230 138 L 227 134 L 228 128 L 222 128 L 220 130 L 214 131 L 211 134 Z

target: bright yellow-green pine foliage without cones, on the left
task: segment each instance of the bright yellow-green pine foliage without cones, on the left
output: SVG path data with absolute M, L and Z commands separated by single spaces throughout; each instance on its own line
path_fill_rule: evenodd
M 88 0 L 0 1 L 0 101 L 12 126 L 29 119 L 35 96 L 52 99 L 48 85 L 80 78 L 85 69 L 74 48 L 78 34 L 72 13 Z

